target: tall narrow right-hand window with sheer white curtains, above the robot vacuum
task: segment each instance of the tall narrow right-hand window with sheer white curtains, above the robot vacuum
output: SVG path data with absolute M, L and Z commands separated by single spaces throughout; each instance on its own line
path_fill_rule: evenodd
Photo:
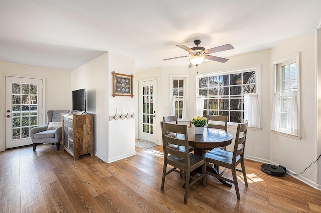
M 274 102 L 271 129 L 292 135 L 299 132 L 299 54 L 273 62 Z

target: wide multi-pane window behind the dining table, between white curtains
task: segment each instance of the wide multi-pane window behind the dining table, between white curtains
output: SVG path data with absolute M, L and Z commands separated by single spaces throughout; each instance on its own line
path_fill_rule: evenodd
M 244 95 L 257 93 L 258 68 L 198 77 L 198 95 L 205 96 L 203 116 L 228 116 L 244 121 Z

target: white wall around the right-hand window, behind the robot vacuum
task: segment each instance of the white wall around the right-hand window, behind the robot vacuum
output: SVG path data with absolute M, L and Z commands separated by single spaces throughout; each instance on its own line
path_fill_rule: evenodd
M 271 162 L 283 165 L 290 172 L 301 173 L 318 156 L 317 152 L 317 51 L 316 33 L 286 39 L 271 50 L 271 61 L 299 52 L 301 59 L 301 134 L 302 139 L 270 134 Z M 272 94 L 271 94 L 272 96 Z M 317 183 L 316 164 L 301 174 L 301 179 Z

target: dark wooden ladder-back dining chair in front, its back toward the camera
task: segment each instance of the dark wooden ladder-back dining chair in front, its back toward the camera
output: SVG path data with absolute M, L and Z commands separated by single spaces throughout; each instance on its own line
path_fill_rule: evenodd
M 203 178 L 203 186 L 206 187 L 206 160 L 204 156 L 189 153 L 188 146 L 188 136 L 187 136 L 187 126 L 171 124 L 166 122 L 161 122 L 162 126 L 162 141 L 163 141 L 163 152 L 164 152 L 164 164 L 163 164 L 163 174 L 162 174 L 162 185 L 161 190 L 164 190 L 165 176 L 175 171 L 181 175 L 185 176 L 185 192 L 184 192 L 184 204 L 187 203 L 188 192 L 190 186 L 196 183 L 198 180 Z M 168 132 L 175 134 L 184 134 L 184 139 L 179 139 L 172 137 Z M 169 146 L 169 144 L 175 144 L 178 146 L 185 147 L 185 150 L 175 149 Z M 167 171 L 167 165 L 173 166 Z M 191 176 L 191 171 L 202 167 L 201 175 Z M 178 170 L 179 169 L 179 170 Z M 190 181 L 191 179 L 191 181 Z

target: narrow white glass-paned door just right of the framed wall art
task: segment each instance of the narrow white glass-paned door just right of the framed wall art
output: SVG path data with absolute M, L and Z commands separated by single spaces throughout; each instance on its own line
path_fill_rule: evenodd
M 157 143 L 156 80 L 139 83 L 139 138 Z

